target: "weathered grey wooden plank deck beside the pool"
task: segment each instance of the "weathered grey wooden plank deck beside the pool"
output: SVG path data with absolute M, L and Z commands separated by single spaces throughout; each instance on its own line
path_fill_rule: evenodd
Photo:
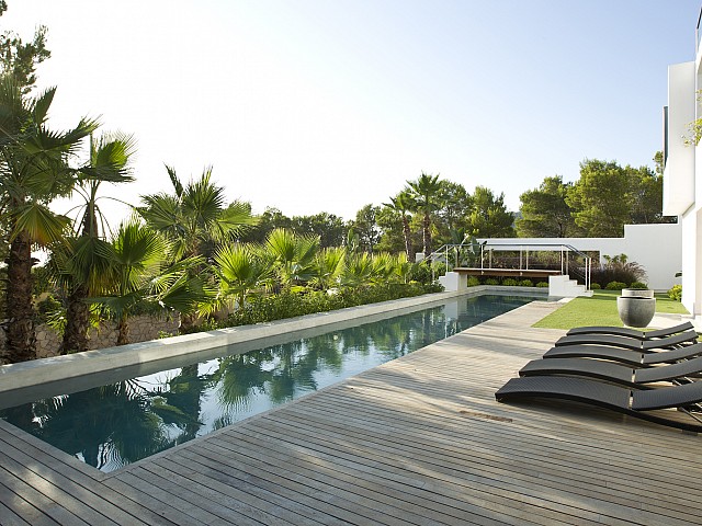
M 0 524 L 702 524 L 702 437 L 495 391 L 530 304 L 110 474 L 0 422 Z

